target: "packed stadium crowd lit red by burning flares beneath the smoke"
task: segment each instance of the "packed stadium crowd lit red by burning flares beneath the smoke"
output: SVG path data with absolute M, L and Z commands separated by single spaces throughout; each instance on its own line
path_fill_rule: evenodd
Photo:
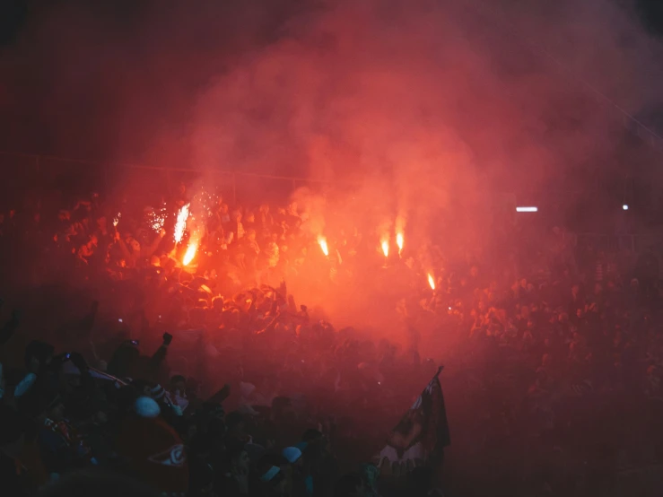
M 663 460 L 654 252 L 604 253 L 559 230 L 527 243 L 510 226 L 500 253 L 392 254 L 385 270 L 410 282 L 385 299 L 397 343 L 333 327 L 286 286 L 352 281 L 375 257 L 354 227 L 328 235 L 326 256 L 305 208 L 208 196 L 184 266 L 194 234 L 172 233 L 191 201 L 185 187 L 157 208 L 31 197 L 0 215 L 13 493 L 110 485 L 99 472 L 112 471 L 126 493 L 610 495 Z M 376 458 L 441 359 L 443 471 Z

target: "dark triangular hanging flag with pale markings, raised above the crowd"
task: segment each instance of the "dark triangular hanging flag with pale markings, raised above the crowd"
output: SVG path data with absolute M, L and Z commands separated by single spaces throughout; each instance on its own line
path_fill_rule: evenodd
M 442 368 L 389 433 L 387 445 L 379 452 L 379 466 L 386 462 L 389 466 L 403 465 L 404 469 L 423 466 L 441 458 L 442 449 L 451 443 L 441 371 Z

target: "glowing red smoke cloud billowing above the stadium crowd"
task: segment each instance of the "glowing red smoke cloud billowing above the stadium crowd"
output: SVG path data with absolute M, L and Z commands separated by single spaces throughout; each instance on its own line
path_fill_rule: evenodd
M 412 220 L 593 189 L 660 59 L 610 0 L 69 1 L 4 48 L 0 105 L 26 152 L 336 181 Z

